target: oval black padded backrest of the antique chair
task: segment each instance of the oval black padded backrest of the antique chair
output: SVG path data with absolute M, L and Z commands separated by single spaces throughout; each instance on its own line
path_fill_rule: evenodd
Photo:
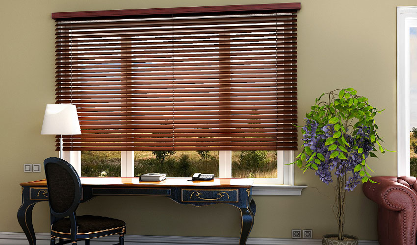
M 81 200 L 81 181 L 67 161 L 50 157 L 44 161 L 51 214 L 62 218 L 71 215 Z

